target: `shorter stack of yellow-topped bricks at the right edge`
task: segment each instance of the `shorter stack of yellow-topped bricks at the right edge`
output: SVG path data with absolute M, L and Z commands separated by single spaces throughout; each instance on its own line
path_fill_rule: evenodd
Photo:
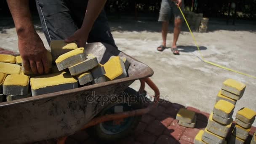
M 230 144 L 243 144 L 245 142 L 251 131 L 251 125 L 255 120 L 255 115 L 255 111 L 246 107 L 237 112 L 235 116 L 236 125 L 229 139 Z

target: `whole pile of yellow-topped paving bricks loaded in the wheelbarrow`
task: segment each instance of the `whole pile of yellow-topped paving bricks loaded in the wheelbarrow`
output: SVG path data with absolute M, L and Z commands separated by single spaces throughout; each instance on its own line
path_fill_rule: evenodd
M 35 75 L 23 67 L 21 56 L 0 54 L 0 102 L 117 80 L 127 77 L 130 66 L 119 56 L 100 64 L 96 56 L 85 53 L 85 48 L 63 40 L 51 42 L 47 60 L 50 74 Z

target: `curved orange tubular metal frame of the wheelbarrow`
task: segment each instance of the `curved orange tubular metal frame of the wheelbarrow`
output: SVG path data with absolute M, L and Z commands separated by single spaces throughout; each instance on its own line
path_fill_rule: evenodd
M 147 85 L 149 85 L 149 87 L 152 88 L 152 90 L 155 92 L 153 104 L 150 104 L 148 107 L 143 108 L 143 109 L 136 109 L 136 110 L 128 111 L 128 112 L 122 112 L 122 113 L 116 113 L 116 114 L 111 114 L 111 115 L 103 115 L 103 116 L 100 116 L 100 117 L 95 117 L 89 123 L 87 123 L 81 129 L 81 131 L 86 129 L 86 128 L 89 128 L 93 125 L 97 125 L 99 123 L 103 123 L 103 122 L 106 122 L 106 121 L 118 120 L 118 119 L 123 119 L 123 118 L 127 118 L 127 117 L 134 117 L 136 115 L 144 115 L 144 114 L 150 112 L 152 109 L 156 108 L 157 103 L 158 103 L 159 98 L 160 98 L 159 89 L 157 88 L 155 83 L 153 83 L 152 80 L 150 80 L 148 77 L 144 78 L 144 79 L 140 79 L 140 83 L 141 83 L 141 86 L 140 86 L 139 92 L 144 91 L 145 83 L 147 83 Z M 58 139 L 57 144 L 65 144 L 66 139 L 67 139 L 67 136 L 61 137 L 60 139 Z

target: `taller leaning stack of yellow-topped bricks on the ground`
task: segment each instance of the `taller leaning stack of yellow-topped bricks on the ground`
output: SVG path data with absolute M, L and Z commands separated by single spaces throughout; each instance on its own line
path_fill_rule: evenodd
M 219 91 L 216 104 L 211 113 L 207 127 L 200 131 L 195 144 L 224 144 L 233 119 L 232 114 L 236 101 L 239 100 L 245 91 L 245 85 L 236 80 L 228 79 L 224 81 L 221 91 Z

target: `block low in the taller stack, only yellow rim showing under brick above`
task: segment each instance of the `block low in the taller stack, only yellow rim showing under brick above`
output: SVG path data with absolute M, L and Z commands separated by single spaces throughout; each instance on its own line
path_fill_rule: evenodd
M 218 136 L 221 137 L 226 137 L 227 133 L 229 132 L 230 128 L 232 125 L 232 120 L 230 120 L 229 124 L 223 125 L 221 123 L 217 123 L 216 121 L 213 120 L 213 113 L 211 113 L 209 119 L 208 119 L 208 124 L 207 124 L 207 130 L 215 133 Z

